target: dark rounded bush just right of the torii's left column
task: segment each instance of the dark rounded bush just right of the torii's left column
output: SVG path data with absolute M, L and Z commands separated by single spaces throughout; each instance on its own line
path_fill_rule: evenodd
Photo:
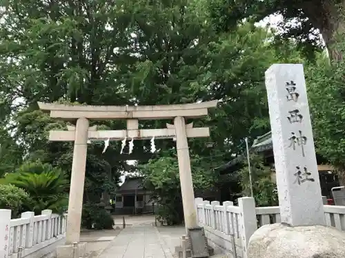
M 81 226 L 83 228 L 112 229 L 114 224 L 114 219 L 105 209 L 100 208 L 97 204 L 84 204 L 81 214 Z

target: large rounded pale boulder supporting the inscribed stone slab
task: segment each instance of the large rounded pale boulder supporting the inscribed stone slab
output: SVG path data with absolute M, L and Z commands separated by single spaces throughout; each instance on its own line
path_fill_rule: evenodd
M 345 233 L 328 226 L 265 225 L 248 244 L 248 258 L 344 258 Z

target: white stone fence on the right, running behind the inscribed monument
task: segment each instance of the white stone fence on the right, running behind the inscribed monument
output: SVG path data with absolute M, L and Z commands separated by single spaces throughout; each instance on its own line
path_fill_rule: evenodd
M 208 244 L 229 257 L 246 258 L 250 236 L 266 224 L 280 222 L 279 206 L 255 207 L 252 197 L 233 202 L 208 202 L 195 199 L 199 226 L 203 226 Z M 345 231 L 345 206 L 324 205 L 327 226 Z

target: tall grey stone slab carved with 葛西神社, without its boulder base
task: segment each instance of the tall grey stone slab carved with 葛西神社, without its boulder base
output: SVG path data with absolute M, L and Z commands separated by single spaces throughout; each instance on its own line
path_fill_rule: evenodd
M 303 66 L 272 65 L 266 89 L 282 223 L 324 225 Z

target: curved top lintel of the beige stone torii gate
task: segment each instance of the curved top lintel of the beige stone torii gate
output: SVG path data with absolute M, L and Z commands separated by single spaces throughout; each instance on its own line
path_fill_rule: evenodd
M 91 120 L 108 120 L 114 118 L 155 120 L 170 119 L 176 116 L 197 118 L 207 116 L 208 108 L 216 107 L 217 100 L 181 105 L 152 106 L 92 106 L 61 105 L 55 103 L 37 103 L 43 111 L 50 111 L 50 117 L 62 120 L 88 118 Z

